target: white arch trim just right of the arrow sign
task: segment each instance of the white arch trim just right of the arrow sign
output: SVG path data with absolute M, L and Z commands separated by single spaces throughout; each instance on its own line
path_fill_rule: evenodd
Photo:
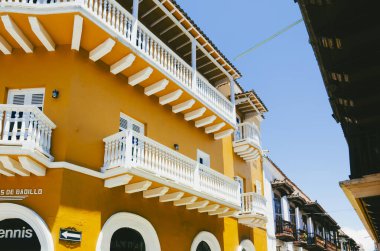
M 110 251 L 112 235 L 120 228 L 131 228 L 141 234 L 146 251 L 160 251 L 160 241 L 152 224 L 143 217 L 132 213 L 116 213 L 104 224 L 96 244 L 96 251 Z

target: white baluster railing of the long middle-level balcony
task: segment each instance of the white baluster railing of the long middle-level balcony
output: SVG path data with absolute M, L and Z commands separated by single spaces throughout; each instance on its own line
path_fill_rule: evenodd
M 104 142 L 104 170 L 136 168 L 240 207 L 238 182 L 148 137 L 126 130 Z

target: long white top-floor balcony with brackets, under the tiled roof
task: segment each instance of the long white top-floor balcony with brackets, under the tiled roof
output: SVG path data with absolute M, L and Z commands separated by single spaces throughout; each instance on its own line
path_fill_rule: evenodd
M 188 63 L 179 57 L 178 54 L 171 50 L 141 22 L 135 20 L 126 9 L 114 0 L 0 0 L 0 9 L 2 9 L 2 12 L 9 11 L 30 14 L 54 14 L 80 11 L 81 14 L 87 16 L 100 27 L 110 30 L 112 32 L 111 35 L 114 38 L 132 48 L 134 52 L 167 75 L 168 79 L 172 80 L 178 85 L 178 87 L 185 90 L 197 101 L 202 103 L 203 106 L 210 109 L 225 122 L 228 122 L 228 124 L 232 126 L 236 125 L 235 110 L 230 100 L 211 85 L 199 72 L 192 69 Z M 46 34 L 39 35 L 44 41 L 47 40 L 49 42 L 47 39 L 49 37 L 46 36 Z M 98 50 L 92 51 L 90 53 L 90 58 L 93 61 L 98 60 L 112 50 L 114 42 L 115 41 L 110 38 L 107 40 L 107 43 L 99 46 Z M 79 47 L 79 45 L 76 46 Z M 111 48 L 108 48 L 107 46 Z M 4 48 L 8 47 L 9 45 Z M 50 47 L 51 50 L 54 50 L 53 46 Z M 32 48 L 30 48 L 30 50 L 32 50 Z M 10 54 L 11 48 L 5 50 L 5 53 Z M 131 58 L 128 58 L 128 60 L 125 59 L 124 61 L 122 60 L 119 64 L 113 65 L 111 72 L 117 74 L 127 67 L 124 65 L 131 65 L 131 62 L 133 62 L 133 59 Z M 141 79 L 149 77 L 152 71 L 152 68 L 147 68 L 144 71 L 141 71 L 141 74 L 138 76 L 136 75 L 136 78 L 138 77 L 139 79 L 138 81 L 136 80 L 136 83 L 141 82 Z M 158 90 L 161 88 L 164 85 L 163 83 L 164 82 L 162 82 L 161 85 L 157 85 L 156 89 Z M 153 92 L 152 90 L 149 91 Z M 160 101 L 160 103 L 166 104 L 172 102 L 173 100 L 178 99 L 181 94 L 181 90 L 178 90 L 177 92 L 174 92 L 173 95 L 168 96 L 165 101 Z M 176 112 L 185 110 L 185 108 L 189 109 L 188 107 L 193 105 L 192 101 L 193 100 L 189 100 L 187 103 L 183 103 L 182 106 L 176 107 Z M 202 115 L 203 113 L 199 114 Z M 190 117 L 190 115 L 188 117 Z M 213 117 L 211 116 L 210 120 L 212 118 Z M 214 120 L 215 119 L 212 121 Z M 216 132 L 216 128 L 221 130 L 223 126 L 222 123 L 219 123 L 218 125 L 215 125 L 215 127 L 209 128 L 207 133 Z M 217 135 L 216 138 L 224 136 L 227 132 L 230 133 L 232 131 L 228 130 L 224 134 Z

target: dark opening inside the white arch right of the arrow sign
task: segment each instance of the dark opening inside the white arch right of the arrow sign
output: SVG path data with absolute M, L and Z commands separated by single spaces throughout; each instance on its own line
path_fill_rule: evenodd
M 136 230 L 120 228 L 112 235 L 111 251 L 145 251 L 145 242 Z

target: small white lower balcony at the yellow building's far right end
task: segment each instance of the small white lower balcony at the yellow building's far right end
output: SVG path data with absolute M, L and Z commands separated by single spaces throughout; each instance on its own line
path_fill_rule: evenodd
M 237 218 L 243 225 L 265 228 L 267 223 L 266 199 L 255 192 L 243 193 L 242 209 Z

